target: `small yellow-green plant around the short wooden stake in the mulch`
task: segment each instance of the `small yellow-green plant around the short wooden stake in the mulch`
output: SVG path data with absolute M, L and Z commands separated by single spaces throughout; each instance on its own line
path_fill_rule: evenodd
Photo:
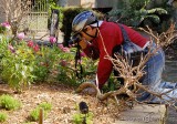
M 48 116 L 48 113 L 51 111 L 52 105 L 50 103 L 41 103 L 30 113 L 30 121 L 39 121 L 40 108 L 43 108 L 44 118 Z

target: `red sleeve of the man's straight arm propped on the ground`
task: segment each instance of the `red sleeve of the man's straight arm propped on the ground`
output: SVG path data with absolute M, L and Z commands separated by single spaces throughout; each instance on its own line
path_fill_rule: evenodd
M 106 59 L 105 56 L 107 56 L 107 54 L 112 56 L 113 48 L 116 44 L 118 44 L 117 41 L 119 38 L 117 34 L 114 33 L 115 31 L 111 32 L 110 34 L 103 33 L 102 34 L 103 41 L 102 40 L 100 41 L 100 62 L 97 66 L 97 78 L 98 78 L 100 89 L 106 83 L 113 70 L 113 64 L 111 60 Z

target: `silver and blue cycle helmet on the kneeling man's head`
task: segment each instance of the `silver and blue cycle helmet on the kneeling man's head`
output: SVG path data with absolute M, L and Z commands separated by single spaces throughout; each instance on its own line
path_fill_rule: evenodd
M 92 11 L 83 11 L 74 18 L 72 22 L 72 31 L 74 33 L 77 33 L 82 31 L 84 27 L 93 24 L 95 22 L 97 22 L 97 19 Z

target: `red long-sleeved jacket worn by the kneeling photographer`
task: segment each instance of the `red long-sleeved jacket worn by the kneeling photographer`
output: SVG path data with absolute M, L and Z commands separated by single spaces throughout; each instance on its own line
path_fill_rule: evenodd
M 139 45 L 140 48 L 143 48 L 146 44 L 147 39 L 142 37 L 135 30 L 126 25 L 123 25 L 123 27 L 126 30 L 131 41 L 133 41 L 135 44 Z M 103 23 L 98 29 L 103 38 L 103 42 L 105 44 L 106 51 L 112 56 L 113 48 L 123 42 L 123 35 L 122 35 L 121 29 L 116 23 L 106 22 L 106 21 L 103 21 Z M 106 52 L 104 50 L 101 35 L 98 34 L 98 37 L 92 41 L 92 44 L 88 44 L 86 49 L 83 50 L 84 53 L 88 58 L 92 58 L 93 60 L 96 60 L 100 58 L 98 66 L 97 66 L 97 79 L 98 79 L 100 87 L 102 87 L 105 84 L 105 82 L 108 80 L 113 69 L 112 62 L 104 58 L 106 55 Z

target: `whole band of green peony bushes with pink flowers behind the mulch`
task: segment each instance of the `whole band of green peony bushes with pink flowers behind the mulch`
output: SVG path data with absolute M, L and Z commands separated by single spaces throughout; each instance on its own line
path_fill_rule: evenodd
M 35 45 L 35 42 L 33 44 Z M 13 50 L 8 49 L 9 46 Z M 9 43 L 3 39 L 0 42 L 0 76 L 18 92 L 35 82 L 77 85 L 91 78 L 96 70 L 95 62 L 82 56 L 83 79 L 76 76 L 75 48 L 51 44 L 51 46 L 41 45 L 38 52 L 33 49 L 24 41 Z

